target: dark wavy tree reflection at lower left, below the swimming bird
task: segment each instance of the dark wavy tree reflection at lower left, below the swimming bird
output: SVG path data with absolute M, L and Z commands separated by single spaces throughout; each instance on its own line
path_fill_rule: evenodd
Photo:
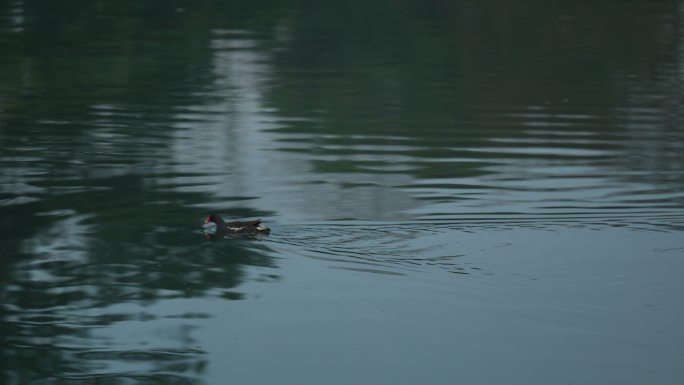
M 136 185 L 131 177 L 99 183 Z M 99 383 L 108 378 L 117 383 L 125 378 L 126 383 L 195 382 L 207 363 L 188 327 L 210 312 L 178 309 L 162 339 L 139 336 L 138 341 L 126 341 L 113 336 L 126 325 L 155 330 L 160 315 L 145 308 L 161 300 L 241 299 L 236 289 L 244 280 L 245 266 L 274 267 L 263 243 L 205 240 L 199 230 L 201 215 L 194 210 L 175 210 L 172 216 L 187 218 L 184 223 L 163 223 L 164 215 L 133 215 L 126 209 L 119 211 L 118 219 L 106 211 L 88 212 L 89 205 L 95 208 L 99 202 L 122 199 L 121 190 L 108 189 L 99 197 L 72 196 L 82 203 L 81 214 L 35 216 L 29 213 L 38 211 L 37 205 L 12 207 L 11 221 L 30 218 L 23 221 L 23 230 L 3 229 L 12 235 L 14 246 L 8 250 L 13 258 L 3 266 L 5 383 Z M 149 213 L 163 211 L 168 216 L 174 209 Z M 141 322 L 142 327 L 133 326 Z M 102 330 L 112 330 L 113 335 Z M 126 374 L 142 368 L 141 374 Z

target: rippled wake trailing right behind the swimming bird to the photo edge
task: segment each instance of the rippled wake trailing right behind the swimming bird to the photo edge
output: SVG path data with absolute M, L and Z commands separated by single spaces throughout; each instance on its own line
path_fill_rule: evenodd
M 652 212 L 614 213 L 606 217 L 594 213 L 534 216 L 476 215 L 457 220 L 448 216 L 403 223 L 347 224 L 273 227 L 267 242 L 275 250 L 294 256 L 323 261 L 334 268 L 369 273 L 403 275 L 434 269 L 459 273 L 482 273 L 483 267 L 472 259 L 472 250 L 460 240 L 473 234 L 501 231 L 553 231 L 571 229 L 601 231 L 623 228 L 628 231 L 681 232 L 684 215 Z M 282 246 L 285 246 L 283 249 Z

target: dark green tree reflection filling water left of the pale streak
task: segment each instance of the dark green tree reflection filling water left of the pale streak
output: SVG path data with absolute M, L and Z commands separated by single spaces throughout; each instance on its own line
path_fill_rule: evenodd
M 202 237 L 197 205 L 269 212 L 183 191 L 197 170 L 172 167 L 173 127 L 207 101 L 210 31 L 261 5 L 0 5 L 3 383 L 201 382 L 210 312 L 145 309 L 239 300 L 248 266 L 275 266 L 263 243 Z

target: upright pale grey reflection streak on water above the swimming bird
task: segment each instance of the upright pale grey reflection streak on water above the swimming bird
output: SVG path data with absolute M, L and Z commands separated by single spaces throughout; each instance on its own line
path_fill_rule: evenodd
M 206 103 L 178 116 L 170 181 L 212 194 L 212 207 L 221 206 L 221 198 L 252 197 L 260 189 L 257 177 L 268 166 L 260 144 L 269 126 L 262 99 L 271 71 L 267 54 L 255 49 L 258 41 L 247 31 L 214 35 L 215 81 L 202 95 Z

